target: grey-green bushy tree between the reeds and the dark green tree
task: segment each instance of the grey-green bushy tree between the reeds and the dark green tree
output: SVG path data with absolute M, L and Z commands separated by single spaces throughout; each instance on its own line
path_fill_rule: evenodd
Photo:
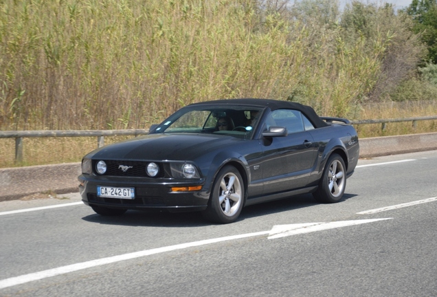
M 418 34 L 412 32 L 414 23 L 405 14 L 395 14 L 391 4 L 364 4 L 352 1 L 341 17 L 344 38 L 366 40 L 366 50 L 381 46 L 379 76 L 367 94 L 367 99 L 384 100 L 407 78 L 414 75 L 424 47 Z M 377 43 L 379 41 L 379 43 Z

